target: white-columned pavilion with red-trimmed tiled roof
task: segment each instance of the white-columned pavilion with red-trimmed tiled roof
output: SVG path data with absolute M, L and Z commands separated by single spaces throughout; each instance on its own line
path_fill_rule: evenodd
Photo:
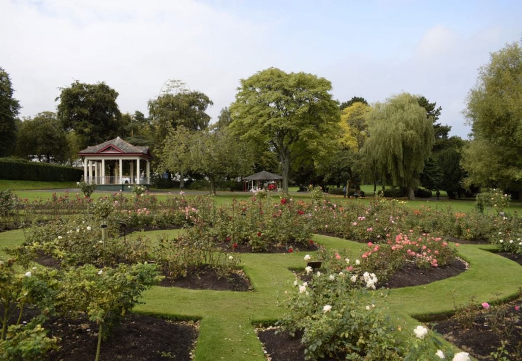
M 88 184 L 97 184 L 98 188 L 106 190 L 125 190 L 126 185 L 150 185 L 152 155 L 149 147 L 136 147 L 117 137 L 87 147 L 78 155 L 84 162 L 84 179 Z

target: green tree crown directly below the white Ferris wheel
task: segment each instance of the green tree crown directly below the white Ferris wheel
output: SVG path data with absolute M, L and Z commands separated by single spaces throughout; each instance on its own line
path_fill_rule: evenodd
M 164 93 L 148 102 L 150 118 L 159 139 L 167 136 L 169 126 L 176 129 L 182 125 L 191 130 L 207 128 L 210 116 L 206 111 L 209 105 L 213 105 L 212 101 L 198 91 Z

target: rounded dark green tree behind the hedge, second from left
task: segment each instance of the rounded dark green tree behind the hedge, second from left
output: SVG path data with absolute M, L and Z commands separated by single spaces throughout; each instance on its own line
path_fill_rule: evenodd
M 18 131 L 17 154 L 47 163 L 68 161 L 68 142 L 56 114 L 41 112 L 25 119 Z

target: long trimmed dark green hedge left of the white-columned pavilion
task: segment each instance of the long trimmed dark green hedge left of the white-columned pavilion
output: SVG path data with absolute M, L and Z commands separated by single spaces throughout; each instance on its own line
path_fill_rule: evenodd
M 78 182 L 84 171 L 65 165 L 0 158 L 0 179 L 16 181 Z

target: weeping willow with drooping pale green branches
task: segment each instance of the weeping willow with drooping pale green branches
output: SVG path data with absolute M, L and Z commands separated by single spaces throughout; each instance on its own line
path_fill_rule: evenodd
M 405 186 L 414 199 L 424 162 L 433 147 L 433 121 L 408 93 L 375 103 L 366 116 L 370 137 L 362 149 L 367 173 Z

